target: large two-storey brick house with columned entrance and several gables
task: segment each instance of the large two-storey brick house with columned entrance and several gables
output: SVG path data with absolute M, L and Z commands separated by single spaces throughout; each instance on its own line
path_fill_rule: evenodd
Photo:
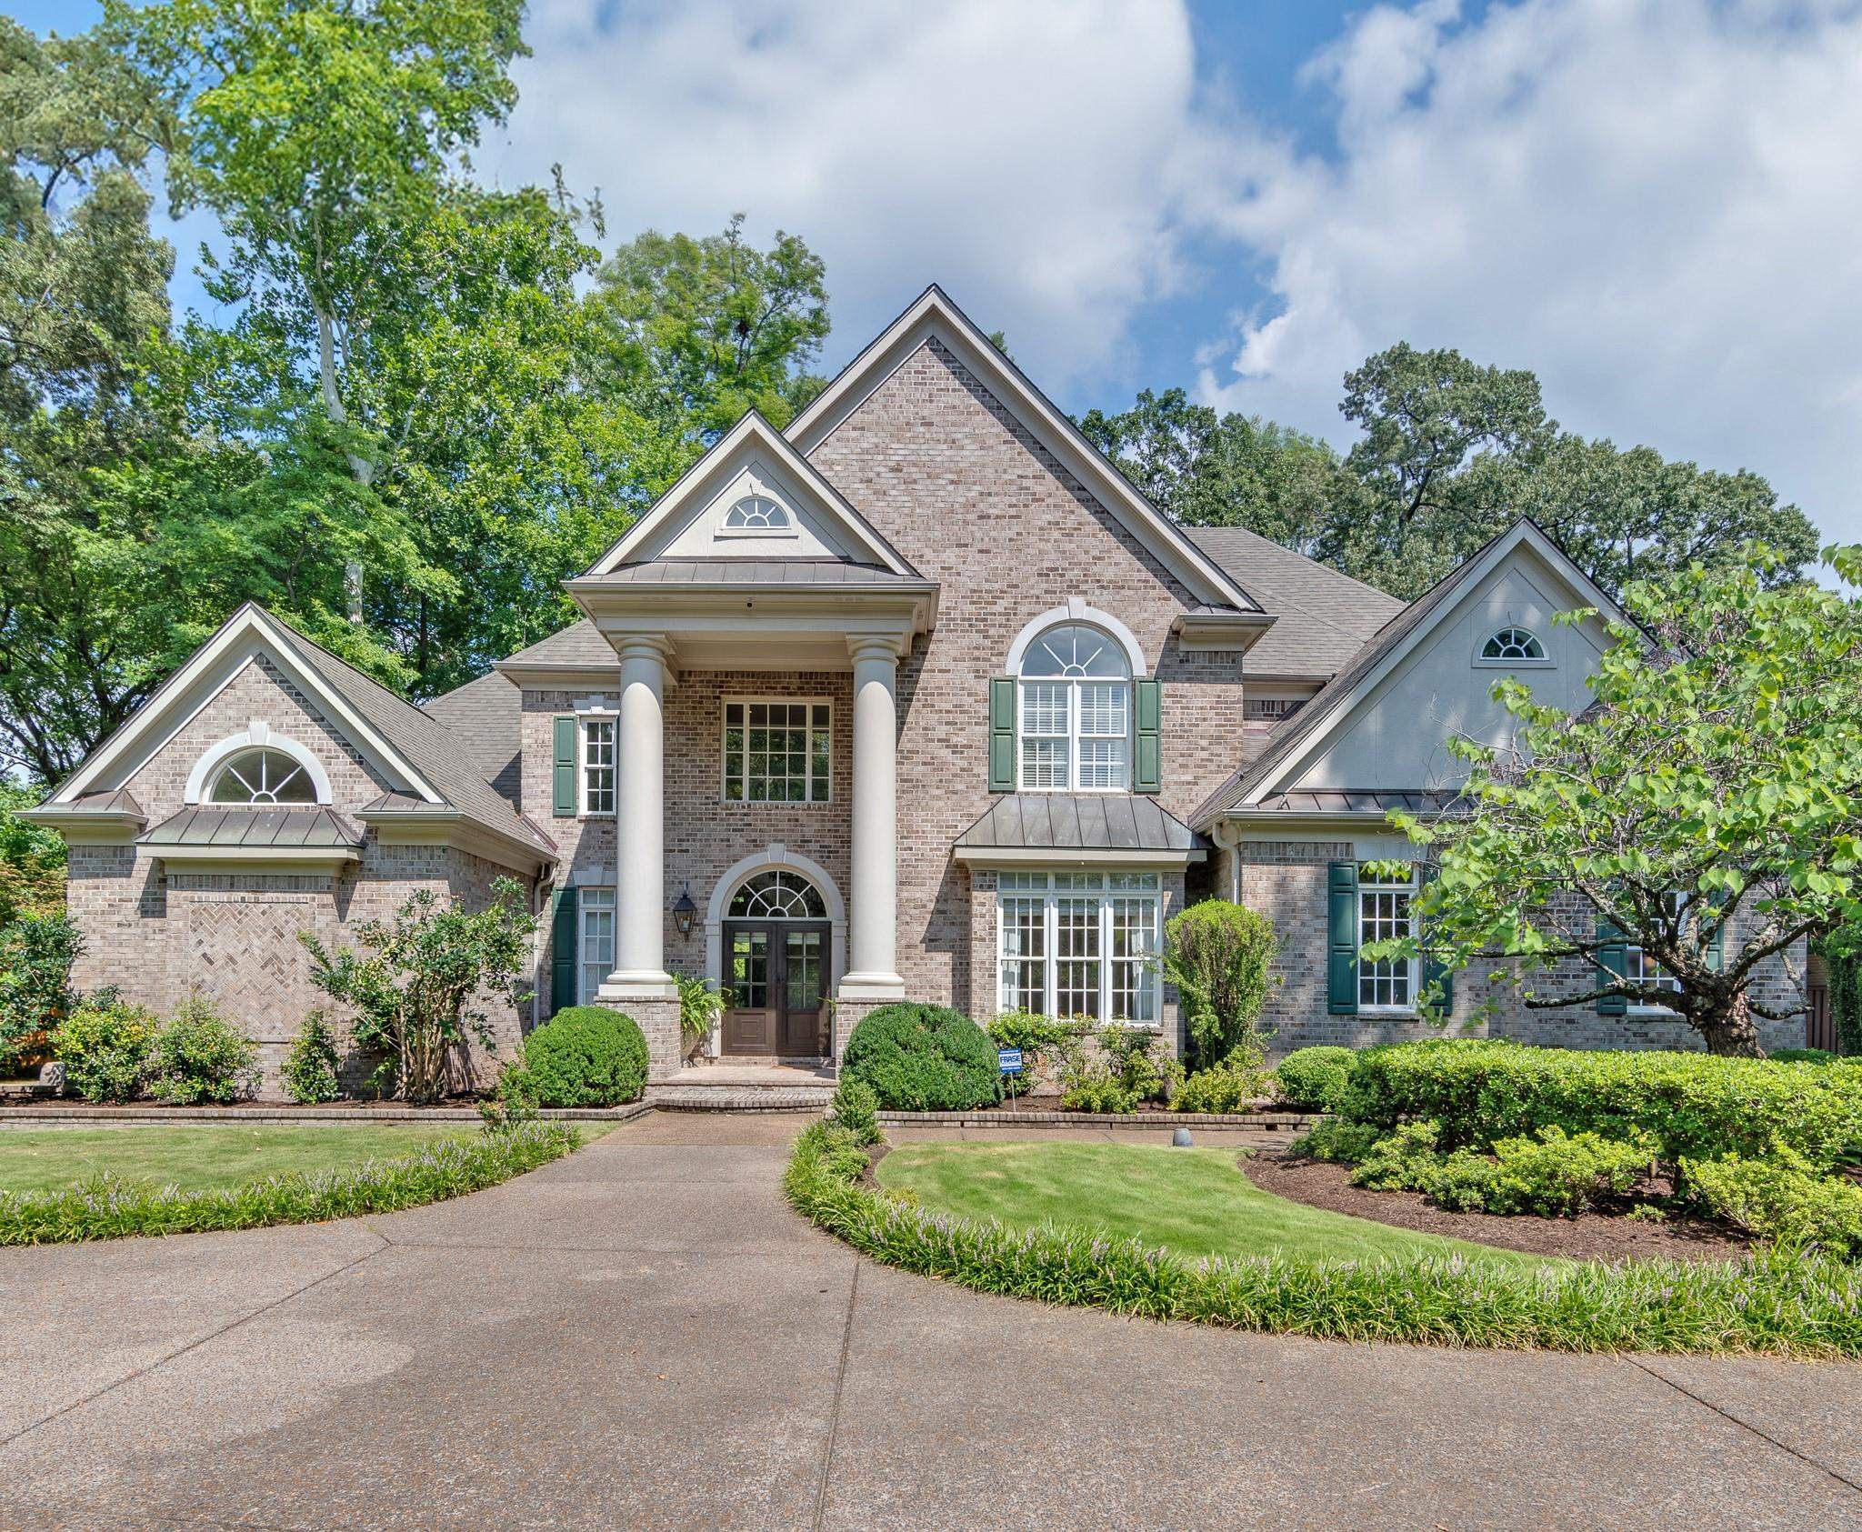
M 1421 975 L 1356 961 L 1408 920 L 1363 871 L 1408 856 L 1383 815 L 1503 728 L 1497 674 L 1581 700 L 1603 622 L 1551 616 L 1612 611 L 1525 521 L 1411 605 L 1177 527 L 935 287 L 566 586 L 581 622 L 425 707 L 236 612 L 34 813 L 80 985 L 197 985 L 276 1055 L 317 1003 L 298 931 L 508 875 L 540 921 L 506 1044 L 611 1003 L 674 1080 L 672 972 L 732 988 L 732 1059 L 838 1057 L 899 998 L 1177 1042 L 1149 955 L 1220 894 L 1281 934 L 1275 1052 L 1417 1035 Z M 1456 988 L 1493 1033 L 1687 1041 Z

